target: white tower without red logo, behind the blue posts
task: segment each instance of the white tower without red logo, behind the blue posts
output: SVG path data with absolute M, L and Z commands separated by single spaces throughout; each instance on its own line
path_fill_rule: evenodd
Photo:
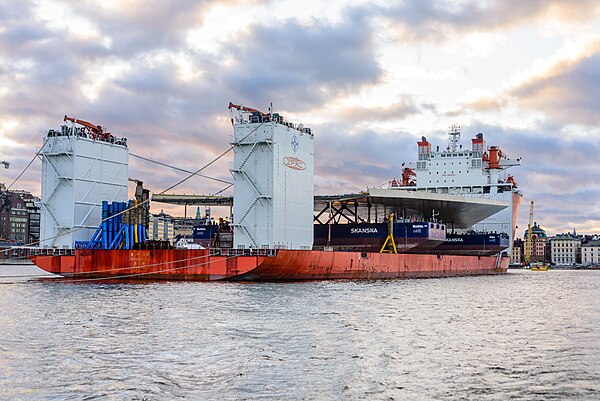
M 73 248 L 75 241 L 89 241 L 101 221 L 102 201 L 128 198 L 126 139 L 63 125 L 48 132 L 40 155 L 40 246 Z

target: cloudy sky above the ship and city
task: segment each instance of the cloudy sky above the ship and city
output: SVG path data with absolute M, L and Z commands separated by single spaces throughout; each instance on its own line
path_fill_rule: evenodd
M 0 0 L 0 182 L 64 115 L 197 170 L 229 147 L 230 101 L 312 128 L 317 194 L 398 177 L 421 136 L 443 148 L 457 124 L 522 158 L 520 227 L 533 200 L 549 234 L 600 234 L 598 1 Z M 231 181 L 231 157 L 203 173 Z M 129 169 L 154 192 L 186 176 Z M 14 188 L 39 194 L 40 172 Z

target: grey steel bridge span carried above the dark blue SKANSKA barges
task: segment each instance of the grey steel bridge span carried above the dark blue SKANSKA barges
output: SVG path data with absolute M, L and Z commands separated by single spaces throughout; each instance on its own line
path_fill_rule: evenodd
M 154 202 L 179 205 L 232 206 L 231 196 L 155 194 Z M 368 188 L 367 191 L 314 197 L 315 222 L 378 222 L 390 213 L 396 217 L 418 216 L 469 228 L 510 206 L 498 199 L 467 197 L 415 190 Z

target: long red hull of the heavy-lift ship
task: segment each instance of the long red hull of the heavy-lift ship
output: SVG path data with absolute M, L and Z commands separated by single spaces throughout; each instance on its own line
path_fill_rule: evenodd
M 294 281 L 432 278 L 501 274 L 508 257 L 279 250 L 276 256 L 214 255 L 209 250 L 77 250 L 31 257 L 72 278 Z

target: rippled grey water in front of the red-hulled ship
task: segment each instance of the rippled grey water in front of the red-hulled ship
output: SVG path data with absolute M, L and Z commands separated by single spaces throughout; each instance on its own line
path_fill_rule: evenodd
M 600 271 L 73 283 L 0 266 L 0 398 L 600 399 Z

